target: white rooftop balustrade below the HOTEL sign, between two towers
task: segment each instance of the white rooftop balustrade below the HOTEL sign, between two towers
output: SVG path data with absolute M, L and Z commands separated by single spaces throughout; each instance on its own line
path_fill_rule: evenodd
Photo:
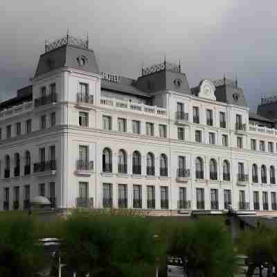
M 100 98 L 100 105 L 116 111 L 131 111 L 145 116 L 158 116 L 166 118 L 166 109 L 157 106 L 148 106 L 115 98 Z

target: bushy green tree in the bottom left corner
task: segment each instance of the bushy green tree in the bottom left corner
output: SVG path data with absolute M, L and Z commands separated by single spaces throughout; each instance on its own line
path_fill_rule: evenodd
M 44 249 L 36 236 L 33 217 L 0 214 L 0 276 L 35 276 L 44 264 Z

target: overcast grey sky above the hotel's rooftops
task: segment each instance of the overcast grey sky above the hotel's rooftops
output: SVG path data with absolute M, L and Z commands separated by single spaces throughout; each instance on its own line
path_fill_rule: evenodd
M 137 78 L 141 66 L 181 60 L 191 87 L 238 75 L 249 107 L 277 94 L 276 0 L 1 0 L 0 93 L 33 77 L 44 41 L 84 37 L 101 71 Z

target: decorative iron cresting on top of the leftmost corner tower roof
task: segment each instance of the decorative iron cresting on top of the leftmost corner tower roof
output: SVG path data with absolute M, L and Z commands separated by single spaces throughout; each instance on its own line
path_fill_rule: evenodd
M 80 39 L 77 37 L 73 37 L 72 35 L 69 35 L 69 33 L 67 33 L 67 35 L 65 37 L 56 39 L 54 42 L 51 42 L 49 44 L 47 42 L 45 42 L 45 53 L 50 52 L 50 51 L 52 51 L 56 48 L 59 48 L 60 46 L 63 46 L 63 45 L 74 45 L 74 46 L 88 49 L 89 48 L 89 37 L 87 36 L 86 39 Z

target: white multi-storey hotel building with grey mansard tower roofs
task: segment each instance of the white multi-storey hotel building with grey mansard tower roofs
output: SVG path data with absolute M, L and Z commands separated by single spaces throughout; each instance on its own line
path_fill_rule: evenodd
M 188 86 L 163 62 L 100 73 L 88 41 L 46 44 L 28 87 L 0 103 L 0 209 L 277 213 L 277 102 L 249 112 L 238 82 Z

